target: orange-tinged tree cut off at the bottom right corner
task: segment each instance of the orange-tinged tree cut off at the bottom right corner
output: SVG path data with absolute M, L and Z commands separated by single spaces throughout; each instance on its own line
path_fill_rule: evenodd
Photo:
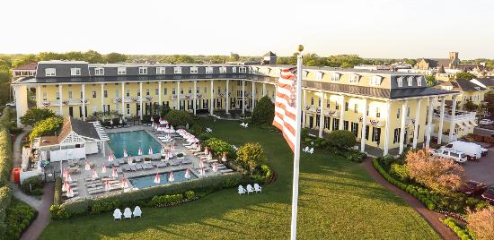
M 478 211 L 467 210 L 467 213 L 467 227 L 472 230 L 476 239 L 494 239 L 494 207 Z

